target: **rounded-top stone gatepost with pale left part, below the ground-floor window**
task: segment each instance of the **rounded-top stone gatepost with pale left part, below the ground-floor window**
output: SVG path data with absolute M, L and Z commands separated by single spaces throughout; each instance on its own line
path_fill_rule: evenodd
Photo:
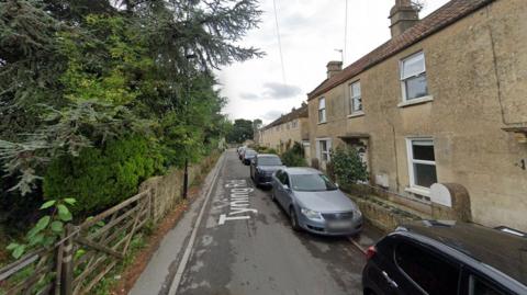
M 434 183 L 430 186 L 431 217 L 472 222 L 469 191 L 459 183 Z

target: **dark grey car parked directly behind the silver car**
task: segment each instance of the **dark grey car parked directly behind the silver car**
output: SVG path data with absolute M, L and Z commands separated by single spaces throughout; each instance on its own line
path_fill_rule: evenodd
M 285 167 L 277 155 L 258 154 L 250 161 L 250 179 L 253 179 L 256 186 L 270 185 L 272 173 L 281 168 Z

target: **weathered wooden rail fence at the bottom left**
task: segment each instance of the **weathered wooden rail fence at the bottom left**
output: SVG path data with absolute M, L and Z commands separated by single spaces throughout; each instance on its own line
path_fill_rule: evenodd
M 0 294 L 87 294 L 124 258 L 137 230 L 152 218 L 144 191 L 76 226 L 54 247 L 0 269 Z

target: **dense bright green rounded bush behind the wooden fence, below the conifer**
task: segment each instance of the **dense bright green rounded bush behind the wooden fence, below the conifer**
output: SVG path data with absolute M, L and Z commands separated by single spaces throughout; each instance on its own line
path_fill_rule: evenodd
M 162 170 L 156 145 L 138 136 L 85 148 L 78 157 L 53 161 L 44 175 L 44 197 L 75 197 L 76 213 L 94 213 L 137 193 L 138 185 Z

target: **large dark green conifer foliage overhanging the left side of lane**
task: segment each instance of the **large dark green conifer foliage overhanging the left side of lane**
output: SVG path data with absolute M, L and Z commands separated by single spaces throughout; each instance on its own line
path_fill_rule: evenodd
M 0 161 L 14 189 L 130 133 L 171 163 L 198 159 L 225 134 L 212 69 L 262 55 L 237 45 L 260 14 L 256 0 L 1 2 Z

